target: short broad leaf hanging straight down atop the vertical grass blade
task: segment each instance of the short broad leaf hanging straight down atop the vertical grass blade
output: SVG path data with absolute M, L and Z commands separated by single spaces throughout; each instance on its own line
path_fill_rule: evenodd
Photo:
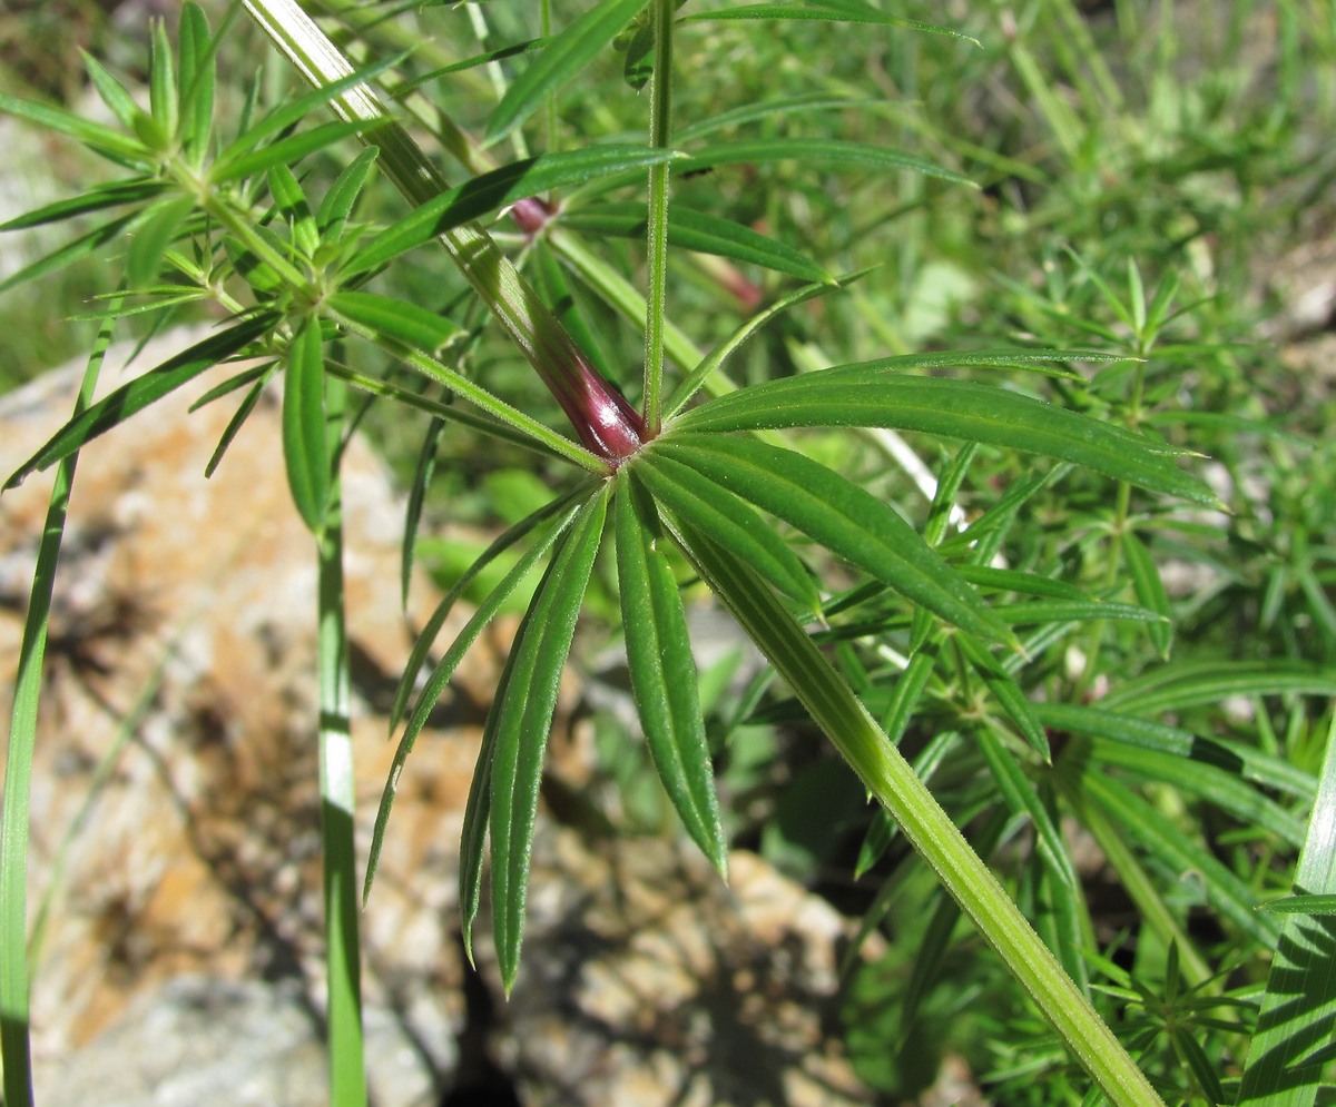
M 307 319 L 287 351 L 283 461 L 293 502 L 314 534 L 325 529 L 330 454 L 325 433 L 325 351 L 318 319 Z

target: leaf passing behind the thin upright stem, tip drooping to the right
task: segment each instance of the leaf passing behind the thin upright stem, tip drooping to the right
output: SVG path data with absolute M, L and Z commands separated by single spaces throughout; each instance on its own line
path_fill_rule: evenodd
M 561 222 L 585 234 L 633 239 L 643 239 L 647 227 L 644 206 L 637 203 L 585 207 L 562 215 Z M 681 250 L 764 266 L 800 280 L 834 284 L 826 270 L 792 247 L 732 219 L 720 219 L 677 203 L 668 208 L 668 243 Z

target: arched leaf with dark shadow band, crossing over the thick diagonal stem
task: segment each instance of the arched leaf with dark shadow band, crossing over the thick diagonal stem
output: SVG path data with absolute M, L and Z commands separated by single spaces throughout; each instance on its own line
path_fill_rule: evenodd
M 609 143 L 512 162 L 418 206 L 366 243 L 351 258 L 345 271 L 365 272 L 383 266 L 399 254 L 432 242 L 445 231 L 461 227 L 492 211 L 500 211 L 517 200 L 625 170 L 643 170 L 681 156 L 672 150 Z

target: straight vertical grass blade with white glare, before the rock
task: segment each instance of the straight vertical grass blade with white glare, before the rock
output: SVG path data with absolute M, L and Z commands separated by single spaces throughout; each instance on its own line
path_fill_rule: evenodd
M 329 513 L 323 534 L 318 539 L 317 649 L 330 1102 L 335 1107 L 365 1107 L 362 955 L 358 940 L 357 853 L 353 840 L 357 793 L 353 777 L 351 693 L 347 624 L 343 612 L 343 525 L 338 479 L 346 387 L 333 378 L 327 379 L 326 387 L 330 451 L 334 461 Z

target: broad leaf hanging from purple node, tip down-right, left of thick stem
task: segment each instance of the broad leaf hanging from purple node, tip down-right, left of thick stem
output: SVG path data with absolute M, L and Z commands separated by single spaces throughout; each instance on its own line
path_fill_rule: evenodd
M 643 490 L 629 473 L 619 485 L 617 581 L 636 709 L 668 797 L 692 840 L 724 873 L 728 851 L 681 594 L 668 558 L 655 546 Z

